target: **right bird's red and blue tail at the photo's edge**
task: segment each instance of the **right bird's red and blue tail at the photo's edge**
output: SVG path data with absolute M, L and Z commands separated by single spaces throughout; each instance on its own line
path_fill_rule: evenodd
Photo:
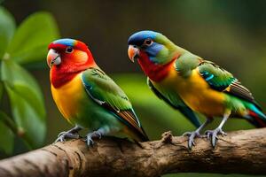
M 248 119 L 255 127 L 266 127 L 266 115 L 257 106 L 249 106 Z

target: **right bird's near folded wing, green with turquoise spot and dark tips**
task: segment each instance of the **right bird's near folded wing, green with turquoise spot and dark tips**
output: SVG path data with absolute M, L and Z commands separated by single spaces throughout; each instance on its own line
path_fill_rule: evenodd
M 254 96 L 231 73 L 213 62 L 202 60 L 198 65 L 198 71 L 212 89 L 237 96 L 250 103 L 260 106 L 254 101 Z

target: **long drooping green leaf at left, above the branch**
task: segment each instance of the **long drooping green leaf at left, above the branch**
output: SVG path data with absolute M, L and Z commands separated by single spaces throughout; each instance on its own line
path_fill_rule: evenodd
M 31 147 L 42 145 L 45 136 L 43 95 L 35 79 L 12 60 L 2 61 L 2 80 L 12 105 L 20 135 Z

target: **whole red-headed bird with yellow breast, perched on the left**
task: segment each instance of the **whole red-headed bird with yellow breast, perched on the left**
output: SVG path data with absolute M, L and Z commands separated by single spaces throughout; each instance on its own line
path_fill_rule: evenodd
M 88 146 L 105 135 L 124 134 L 137 142 L 148 141 L 129 97 L 96 64 L 88 46 L 64 38 L 48 46 L 51 95 L 59 112 L 74 127 L 55 142 L 79 138 L 87 128 Z

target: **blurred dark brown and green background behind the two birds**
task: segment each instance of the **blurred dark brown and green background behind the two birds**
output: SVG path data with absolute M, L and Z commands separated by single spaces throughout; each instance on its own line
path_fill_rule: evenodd
M 153 96 L 145 84 L 145 76 L 140 67 L 129 62 L 127 40 L 129 35 L 138 30 L 161 32 L 184 49 L 223 66 L 254 93 L 262 107 L 266 107 L 264 0 L 5 0 L 1 5 L 12 14 L 16 24 L 20 24 L 34 12 L 50 12 L 56 20 L 61 37 L 86 42 L 98 65 L 111 74 L 114 81 L 128 94 L 152 139 L 159 139 L 164 131 L 171 130 L 174 135 L 182 135 L 194 127 L 179 112 L 173 111 Z M 42 19 L 40 22 L 43 22 Z M 22 42 L 21 47 L 23 45 Z M 43 54 L 43 59 L 20 64 L 35 76 L 43 91 L 47 128 L 44 144 L 51 143 L 59 132 L 70 125 L 62 119 L 51 98 L 49 68 L 45 55 Z M 1 101 L 1 108 L 12 115 L 8 111 L 10 107 L 7 103 L 9 101 L 5 97 Z M 201 120 L 204 118 L 201 117 Z M 219 121 L 217 119 L 207 128 L 217 126 Z M 244 120 L 229 119 L 224 130 L 247 128 L 253 127 Z M 12 153 L 0 153 L 0 158 L 28 150 L 27 145 L 17 136 L 14 143 Z

